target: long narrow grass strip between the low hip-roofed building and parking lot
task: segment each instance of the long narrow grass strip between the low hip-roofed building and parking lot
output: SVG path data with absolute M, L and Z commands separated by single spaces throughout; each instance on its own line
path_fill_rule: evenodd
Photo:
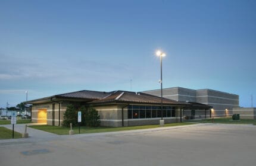
M 193 123 L 168 123 L 165 124 L 164 127 L 170 126 L 183 126 L 183 125 L 193 125 Z M 49 133 L 55 133 L 57 135 L 68 135 L 69 127 L 60 127 L 60 126 L 29 126 L 34 129 L 43 130 Z M 145 125 L 145 126 L 130 126 L 130 127 L 80 127 L 80 133 L 102 133 L 102 132 L 117 132 L 124 130 L 138 130 L 138 129 L 152 129 L 160 127 L 159 125 Z M 79 133 L 79 127 L 73 127 L 74 134 Z

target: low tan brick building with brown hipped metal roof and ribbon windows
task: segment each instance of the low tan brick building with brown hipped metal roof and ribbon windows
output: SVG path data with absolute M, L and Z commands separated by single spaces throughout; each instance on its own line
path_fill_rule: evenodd
M 77 91 L 27 101 L 32 104 L 32 122 L 61 126 L 68 104 L 75 107 L 92 106 L 100 116 L 101 126 L 136 126 L 159 124 L 162 116 L 165 123 L 182 122 L 184 110 L 202 110 L 210 116 L 210 106 L 195 102 L 182 102 L 143 92 L 129 91 Z

